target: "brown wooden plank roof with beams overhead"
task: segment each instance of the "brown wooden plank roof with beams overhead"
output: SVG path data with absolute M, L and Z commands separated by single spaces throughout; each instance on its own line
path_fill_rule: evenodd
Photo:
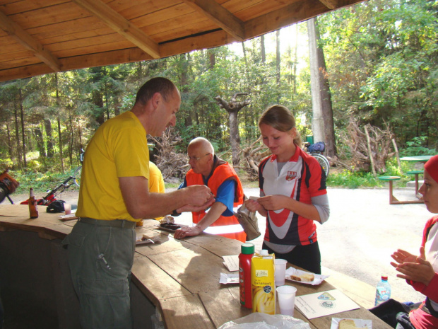
M 248 40 L 363 0 L 0 0 L 0 81 Z

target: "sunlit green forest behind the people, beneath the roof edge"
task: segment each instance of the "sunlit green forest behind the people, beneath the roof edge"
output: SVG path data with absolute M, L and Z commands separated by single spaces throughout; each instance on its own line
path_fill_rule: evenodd
M 364 127 L 386 132 L 401 156 L 437 154 L 437 14 L 434 0 L 369 0 L 317 18 L 317 42 L 326 63 L 321 74 L 330 86 L 337 150 L 331 157 L 337 170 L 329 175 L 328 185 L 380 184 L 366 154 L 353 154 L 352 134 L 363 134 Z M 266 151 L 257 120 L 269 105 L 290 108 L 302 137 L 312 135 L 304 22 L 245 42 L 165 59 L 2 82 L 0 169 L 10 168 L 21 183 L 18 192 L 29 185 L 40 190 L 54 187 L 81 166 L 81 150 L 97 127 L 130 110 L 138 88 L 153 76 L 171 79 L 182 94 L 176 127 L 151 146 L 162 170 L 164 144 L 183 159 L 188 142 L 199 136 L 211 140 L 216 153 L 231 161 L 229 114 L 218 105 L 217 96 L 230 100 L 244 93 L 236 98 L 245 102 L 238 113 L 238 167 L 249 179 L 254 170 L 245 157 L 254 149 L 259 154 Z M 398 166 L 394 150 L 384 161 L 379 175 L 401 175 L 401 184 L 409 179 L 403 173 L 412 165 Z M 181 170 L 173 171 L 179 179 L 188 168 L 180 164 Z M 172 180 L 170 175 L 165 178 Z

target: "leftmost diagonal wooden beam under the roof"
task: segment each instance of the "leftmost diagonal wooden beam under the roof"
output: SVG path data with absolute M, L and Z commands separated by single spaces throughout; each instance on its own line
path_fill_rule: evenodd
M 9 36 L 13 37 L 17 42 L 20 43 L 27 50 L 30 50 L 35 54 L 35 57 L 41 59 L 42 62 L 47 64 L 55 72 L 61 71 L 61 64 L 59 59 L 45 49 L 40 42 L 35 40 L 32 35 L 27 33 L 20 25 L 12 21 L 8 16 L 0 11 L 0 28 L 8 33 Z

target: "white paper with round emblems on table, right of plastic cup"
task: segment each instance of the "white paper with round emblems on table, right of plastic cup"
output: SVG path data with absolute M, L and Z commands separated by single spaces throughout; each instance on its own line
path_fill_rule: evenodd
M 304 316 L 308 319 L 329 316 L 330 314 L 360 308 L 359 305 L 345 296 L 345 294 L 338 289 L 297 296 L 295 299 L 295 306 L 297 306 L 297 308 L 304 313 Z

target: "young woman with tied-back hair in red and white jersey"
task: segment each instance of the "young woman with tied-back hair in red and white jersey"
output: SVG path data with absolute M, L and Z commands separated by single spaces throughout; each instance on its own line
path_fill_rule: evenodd
M 259 165 L 261 197 L 245 205 L 266 217 L 263 248 L 321 274 L 314 222 L 329 219 L 325 173 L 315 158 L 300 149 L 301 137 L 288 108 L 273 105 L 265 110 L 259 129 L 272 155 Z

